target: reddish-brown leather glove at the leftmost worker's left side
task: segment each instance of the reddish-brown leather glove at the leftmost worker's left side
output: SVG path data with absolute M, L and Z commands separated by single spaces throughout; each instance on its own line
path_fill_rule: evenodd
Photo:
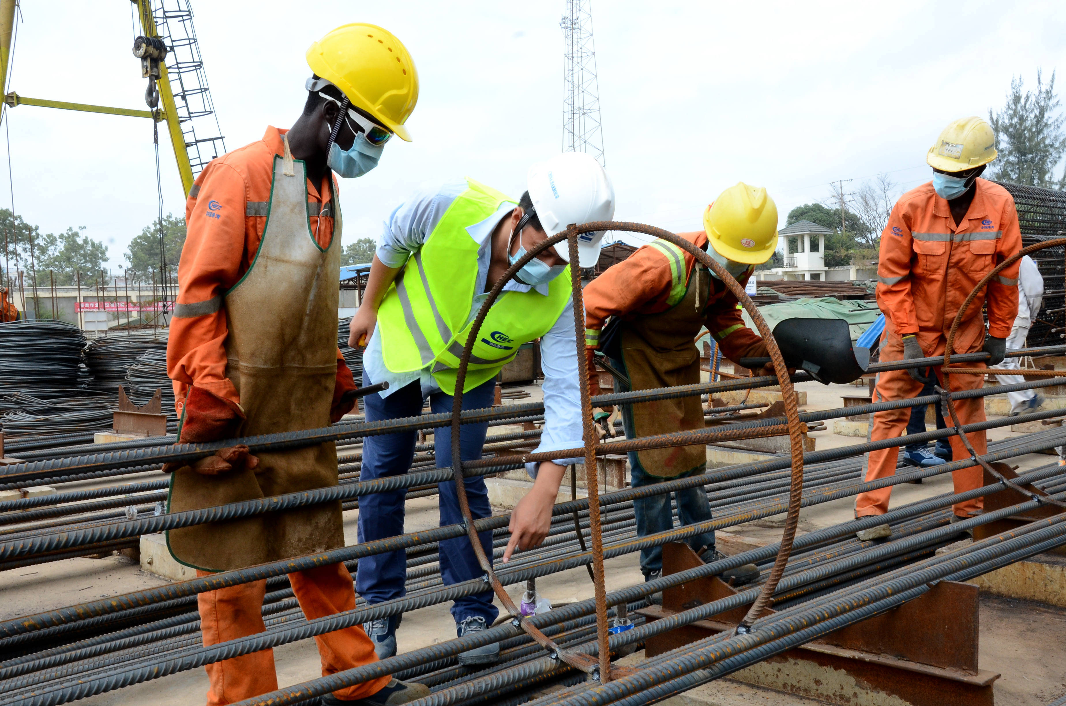
M 240 404 L 195 385 L 189 389 L 183 414 L 178 444 L 204 444 L 233 438 L 245 420 L 244 410 Z M 183 461 L 169 462 L 163 465 L 163 472 L 171 474 L 189 465 Z M 244 445 L 219 449 L 213 456 L 192 464 L 193 470 L 204 476 L 217 476 L 235 468 L 258 466 L 259 459 L 252 455 Z

